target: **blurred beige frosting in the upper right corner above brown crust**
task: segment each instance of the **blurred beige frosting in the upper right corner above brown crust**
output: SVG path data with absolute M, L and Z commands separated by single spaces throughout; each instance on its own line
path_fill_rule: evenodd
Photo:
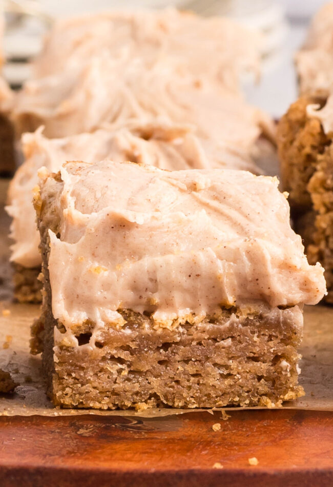
M 333 89 L 333 2 L 314 16 L 302 49 L 296 54 L 299 88 L 327 94 Z

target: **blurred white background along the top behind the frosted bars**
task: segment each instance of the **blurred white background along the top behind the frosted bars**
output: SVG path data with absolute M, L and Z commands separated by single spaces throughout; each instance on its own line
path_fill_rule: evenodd
M 29 59 L 40 49 L 53 19 L 107 8 L 176 6 L 202 15 L 229 15 L 265 37 L 258 85 L 244 80 L 249 102 L 278 118 L 296 97 L 293 55 L 322 0 L 0 0 L 6 11 L 5 76 L 18 87 L 29 76 Z M 28 61 L 28 62 L 27 62 Z

